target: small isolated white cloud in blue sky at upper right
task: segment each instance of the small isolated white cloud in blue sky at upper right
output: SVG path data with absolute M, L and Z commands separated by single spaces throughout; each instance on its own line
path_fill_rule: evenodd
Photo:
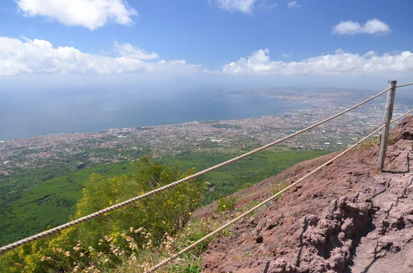
M 364 25 L 353 21 L 341 21 L 332 29 L 333 34 L 386 34 L 391 32 L 389 25 L 379 19 L 368 20 Z

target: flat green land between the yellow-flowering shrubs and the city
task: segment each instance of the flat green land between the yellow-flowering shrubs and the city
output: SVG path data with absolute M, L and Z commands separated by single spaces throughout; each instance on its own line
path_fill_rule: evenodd
M 180 162 L 183 169 L 194 167 L 196 171 L 202 171 L 240 153 L 237 149 L 182 153 L 161 157 L 157 161 L 167 165 Z M 255 184 L 262 179 L 277 175 L 293 164 L 324 154 L 326 154 L 324 151 L 301 151 L 280 146 L 224 166 L 204 175 L 203 179 L 210 183 L 211 190 L 214 189 L 206 191 L 204 204 L 230 195 L 246 183 Z M 92 173 L 102 173 L 110 177 L 131 172 L 133 172 L 133 165 L 123 162 L 86 167 L 81 171 L 76 168 L 62 170 L 45 168 L 25 171 L 15 177 L 9 177 L 8 186 L 10 188 L 10 185 L 14 184 L 15 190 L 5 193 L 6 189 L 3 188 L 1 193 L 3 204 L 0 209 L 0 245 L 28 237 L 45 230 L 48 226 L 65 223 L 76 210 L 76 202 L 81 197 L 83 183 Z M 41 176 L 43 179 L 34 184 L 33 179 L 36 179 L 36 174 L 43 175 Z M 44 178 L 52 176 L 55 177 Z M 36 186 L 28 187 L 30 184 Z

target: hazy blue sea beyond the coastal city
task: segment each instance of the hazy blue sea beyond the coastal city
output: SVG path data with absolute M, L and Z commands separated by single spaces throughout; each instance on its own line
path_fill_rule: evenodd
M 195 89 L 3 91 L 0 141 L 47 133 L 98 132 L 191 121 L 274 116 L 305 102 Z

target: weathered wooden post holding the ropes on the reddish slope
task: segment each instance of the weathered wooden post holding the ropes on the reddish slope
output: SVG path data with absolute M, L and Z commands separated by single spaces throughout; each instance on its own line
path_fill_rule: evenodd
M 387 144 L 389 139 L 390 121 L 392 120 L 393 116 L 394 96 L 396 96 L 396 83 L 397 80 L 389 80 L 389 87 L 392 87 L 392 89 L 388 91 L 388 99 L 385 104 L 383 124 L 386 124 L 386 126 L 383 127 L 383 129 L 381 129 L 380 135 L 379 162 L 377 164 L 377 167 L 380 171 L 383 171 L 384 167 L 385 152 L 387 150 Z

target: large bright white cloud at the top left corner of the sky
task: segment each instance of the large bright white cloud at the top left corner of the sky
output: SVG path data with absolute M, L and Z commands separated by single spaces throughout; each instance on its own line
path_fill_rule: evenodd
M 83 25 L 95 30 L 109 21 L 131 25 L 138 15 L 125 0 L 17 0 L 25 16 L 43 16 L 64 25 Z

